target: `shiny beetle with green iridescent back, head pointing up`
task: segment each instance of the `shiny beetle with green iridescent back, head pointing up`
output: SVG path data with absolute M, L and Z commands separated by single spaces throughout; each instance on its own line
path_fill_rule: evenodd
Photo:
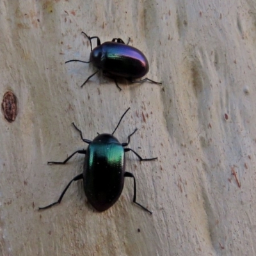
M 70 184 L 73 181 L 83 179 L 84 193 L 88 198 L 88 202 L 90 202 L 97 211 L 106 211 L 109 207 L 115 204 L 120 197 L 124 188 L 124 178 L 131 177 L 134 181 L 132 202 L 152 214 L 152 212 L 146 207 L 136 202 L 136 180 L 132 173 L 125 172 L 125 152 L 133 152 L 140 161 L 152 161 L 156 160 L 157 157 L 142 158 L 132 148 L 127 148 L 130 143 L 130 138 L 138 130 L 137 128 L 128 136 L 128 142 L 120 143 L 115 136 L 113 136 L 122 121 L 122 118 L 124 118 L 129 109 L 130 108 L 128 108 L 122 115 L 115 130 L 111 134 L 98 134 L 98 136 L 92 141 L 84 139 L 81 130 L 72 123 L 75 129 L 79 132 L 81 140 L 89 144 L 88 148 L 86 150 L 77 150 L 68 156 L 63 162 L 48 162 L 48 164 L 66 164 L 75 154 L 84 154 L 86 156 L 84 158 L 83 173 L 70 180 L 66 188 L 61 193 L 58 201 L 45 207 L 39 207 L 39 210 L 60 204 Z

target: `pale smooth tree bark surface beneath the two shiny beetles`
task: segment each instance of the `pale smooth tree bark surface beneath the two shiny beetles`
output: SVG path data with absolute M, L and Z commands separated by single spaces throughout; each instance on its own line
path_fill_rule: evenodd
M 87 3 L 86 3 L 87 2 Z M 255 1 L 0 1 L 0 97 L 17 96 L 14 122 L 0 121 L 1 255 L 255 255 Z M 90 44 L 131 37 L 147 77 L 129 84 L 97 74 Z M 96 42 L 93 42 L 94 46 Z M 92 140 L 125 142 L 132 179 L 105 212 L 74 182 Z

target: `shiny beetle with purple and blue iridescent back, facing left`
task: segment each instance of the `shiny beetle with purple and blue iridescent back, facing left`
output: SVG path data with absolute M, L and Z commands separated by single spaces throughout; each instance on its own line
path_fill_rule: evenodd
M 140 50 L 128 45 L 130 38 L 127 44 L 125 44 L 121 38 L 113 38 L 111 42 L 104 42 L 103 44 L 100 44 L 100 38 L 98 36 L 91 37 L 86 35 L 84 32 L 82 32 L 82 34 L 90 40 L 90 60 L 68 60 L 65 63 L 72 61 L 82 63 L 92 62 L 93 66 L 97 67 L 98 70 L 89 76 L 81 87 L 83 87 L 91 77 L 97 74 L 99 70 L 102 70 L 104 75 L 113 78 L 119 90 L 122 89 L 118 86 L 116 77 L 124 77 L 131 83 L 143 83 L 145 81 L 150 81 L 151 83 L 162 84 L 149 78 L 139 81 L 134 80 L 145 76 L 149 70 L 149 65 L 147 58 Z M 92 39 L 94 38 L 97 39 L 97 47 L 92 49 Z

